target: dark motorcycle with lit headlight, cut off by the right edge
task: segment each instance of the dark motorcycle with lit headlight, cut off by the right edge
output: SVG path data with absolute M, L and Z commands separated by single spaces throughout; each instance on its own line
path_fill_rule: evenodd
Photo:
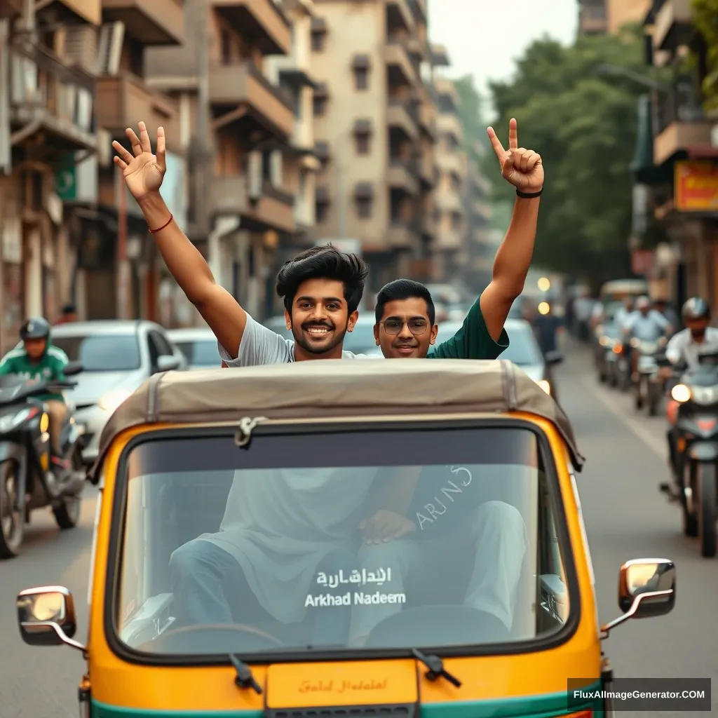
M 668 484 L 661 490 L 681 503 L 684 534 L 698 536 L 701 556 L 712 557 L 718 547 L 718 353 L 699 361 L 671 389 L 677 402 L 671 452 L 676 491 Z

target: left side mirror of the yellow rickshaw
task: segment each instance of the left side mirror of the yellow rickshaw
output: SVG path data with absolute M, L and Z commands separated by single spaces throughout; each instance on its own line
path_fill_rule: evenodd
M 17 595 L 17 623 L 28 645 L 70 645 L 84 651 L 72 640 L 77 631 L 75 602 L 63 586 L 29 588 Z

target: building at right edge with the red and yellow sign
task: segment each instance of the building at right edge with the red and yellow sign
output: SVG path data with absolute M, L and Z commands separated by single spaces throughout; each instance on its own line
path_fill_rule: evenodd
M 718 306 L 718 153 L 702 108 L 707 47 L 691 22 L 690 0 L 653 0 L 645 19 L 650 64 L 673 81 L 643 98 L 637 180 L 647 185 L 655 253 L 653 279 L 680 302 L 692 294 Z M 686 62 L 689 53 L 696 62 Z

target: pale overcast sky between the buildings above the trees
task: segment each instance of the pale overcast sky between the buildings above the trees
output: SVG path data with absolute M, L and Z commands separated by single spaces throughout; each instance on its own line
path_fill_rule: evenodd
M 569 44 L 577 23 L 577 0 L 429 0 L 429 36 L 452 62 L 446 74 L 474 75 L 482 94 L 489 80 L 513 75 L 534 39 L 548 34 Z

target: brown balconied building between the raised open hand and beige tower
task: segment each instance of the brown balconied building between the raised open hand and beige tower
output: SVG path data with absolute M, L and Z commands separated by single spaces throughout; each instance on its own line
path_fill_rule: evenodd
M 184 45 L 148 52 L 146 71 L 180 106 L 194 180 L 186 231 L 215 279 L 262 317 L 274 304 L 277 249 L 297 230 L 282 157 L 302 147 L 294 111 L 305 96 L 271 83 L 267 57 L 300 60 L 302 46 L 299 38 L 293 45 L 292 24 L 273 0 L 187 0 L 185 13 Z M 290 62 L 281 75 L 297 88 L 306 79 L 295 69 Z M 181 307 L 176 289 L 173 297 Z

